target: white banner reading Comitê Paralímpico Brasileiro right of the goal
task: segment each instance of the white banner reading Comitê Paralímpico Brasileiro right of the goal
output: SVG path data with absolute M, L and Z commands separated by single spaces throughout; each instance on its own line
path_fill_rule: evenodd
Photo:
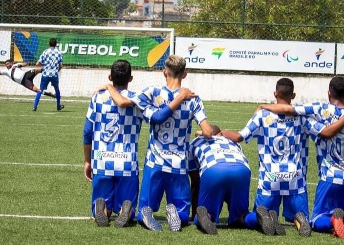
M 334 73 L 335 43 L 176 38 L 187 68 Z

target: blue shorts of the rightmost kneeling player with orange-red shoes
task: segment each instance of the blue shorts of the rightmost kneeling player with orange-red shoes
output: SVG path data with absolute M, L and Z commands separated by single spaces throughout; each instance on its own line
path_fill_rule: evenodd
M 332 216 L 336 207 L 344 209 L 344 185 L 319 181 L 315 192 L 311 225 L 322 216 Z

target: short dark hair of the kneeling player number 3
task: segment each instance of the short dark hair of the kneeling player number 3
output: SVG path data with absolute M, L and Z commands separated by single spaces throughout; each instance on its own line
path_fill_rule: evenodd
M 131 65 L 126 60 L 113 62 L 111 66 L 111 78 L 113 85 L 127 85 L 131 77 Z

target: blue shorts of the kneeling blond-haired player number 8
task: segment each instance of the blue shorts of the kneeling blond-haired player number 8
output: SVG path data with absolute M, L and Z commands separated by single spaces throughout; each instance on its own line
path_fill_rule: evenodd
M 189 217 L 191 189 L 189 176 L 162 172 L 145 165 L 139 198 L 139 213 L 144 206 L 156 212 L 159 210 L 164 192 L 167 204 L 174 204 L 179 216 Z

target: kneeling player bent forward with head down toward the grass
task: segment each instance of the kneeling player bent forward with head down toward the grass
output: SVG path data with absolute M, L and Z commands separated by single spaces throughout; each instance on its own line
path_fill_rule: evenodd
M 212 138 L 198 136 L 190 143 L 189 168 L 200 174 L 194 224 L 205 233 L 217 234 L 213 222 L 218 223 L 223 202 L 228 204 L 228 225 L 239 225 L 240 217 L 248 212 L 251 170 L 240 144 L 216 136 L 220 129 L 211 126 Z

